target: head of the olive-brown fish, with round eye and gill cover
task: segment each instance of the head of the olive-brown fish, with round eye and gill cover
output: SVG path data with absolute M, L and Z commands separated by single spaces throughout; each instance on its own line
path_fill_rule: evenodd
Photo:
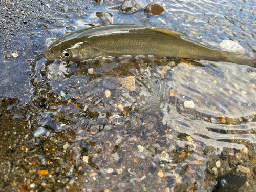
M 60 59 L 62 61 L 82 61 L 97 57 L 97 51 L 90 42 L 59 43 L 53 42 L 45 49 L 44 55 L 48 60 Z

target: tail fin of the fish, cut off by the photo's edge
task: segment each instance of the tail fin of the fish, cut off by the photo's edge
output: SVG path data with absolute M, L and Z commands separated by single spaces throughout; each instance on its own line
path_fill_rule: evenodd
M 225 61 L 227 61 L 227 62 L 256 67 L 256 58 L 248 57 L 246 55 L 231 53 L 231 52 L 227 52 L 227 53 L 228 54 L 225 59 Z

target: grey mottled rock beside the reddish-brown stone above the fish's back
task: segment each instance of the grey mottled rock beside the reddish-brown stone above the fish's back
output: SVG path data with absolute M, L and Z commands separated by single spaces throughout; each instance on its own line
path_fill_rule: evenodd
M 124 0 L 119 10 L 124 13 L 134 13 L 140 9 L 143 9 L 146 5 L 138 2 L 137 0 Z

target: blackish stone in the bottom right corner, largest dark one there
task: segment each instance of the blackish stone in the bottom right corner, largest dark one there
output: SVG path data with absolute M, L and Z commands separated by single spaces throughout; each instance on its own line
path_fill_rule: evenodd
M 245 176 L 237 176 L 232 174 L 222 175 L 217 179 L 217 184 L 215 185 L 213 192 L 229 192 L 238 191 L 245 182 Z

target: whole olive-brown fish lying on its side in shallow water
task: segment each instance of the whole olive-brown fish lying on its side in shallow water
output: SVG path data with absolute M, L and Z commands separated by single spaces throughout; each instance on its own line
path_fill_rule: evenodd
M 44 50 L 48 60 L 84 61 L 102 57 L 170 57 L 256 66 L 256 58 L 221 51 L 172 29 L 135 24 L 93 26 L 70 33 Z

